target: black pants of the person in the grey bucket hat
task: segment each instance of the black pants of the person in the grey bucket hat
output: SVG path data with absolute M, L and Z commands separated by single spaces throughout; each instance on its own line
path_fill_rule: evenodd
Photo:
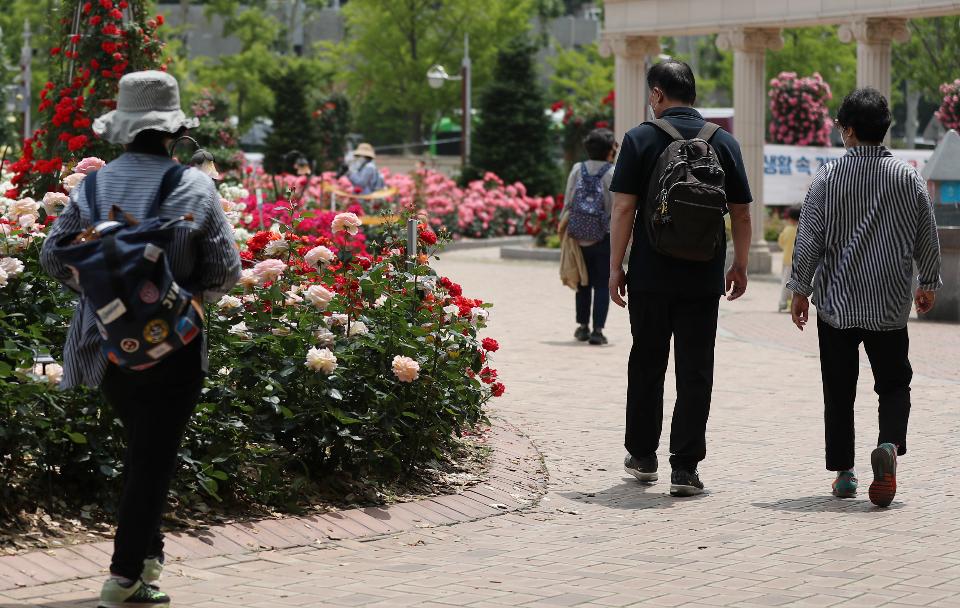
M 201 340 L 155 367 L 127 372 L 110 365 L 100 385 L 123 422 L 124 485 L 110 572 L 140 578 L 143 560 L 163 555 L 160 519 L 176 470 L 183 431 L 200 399 Z

